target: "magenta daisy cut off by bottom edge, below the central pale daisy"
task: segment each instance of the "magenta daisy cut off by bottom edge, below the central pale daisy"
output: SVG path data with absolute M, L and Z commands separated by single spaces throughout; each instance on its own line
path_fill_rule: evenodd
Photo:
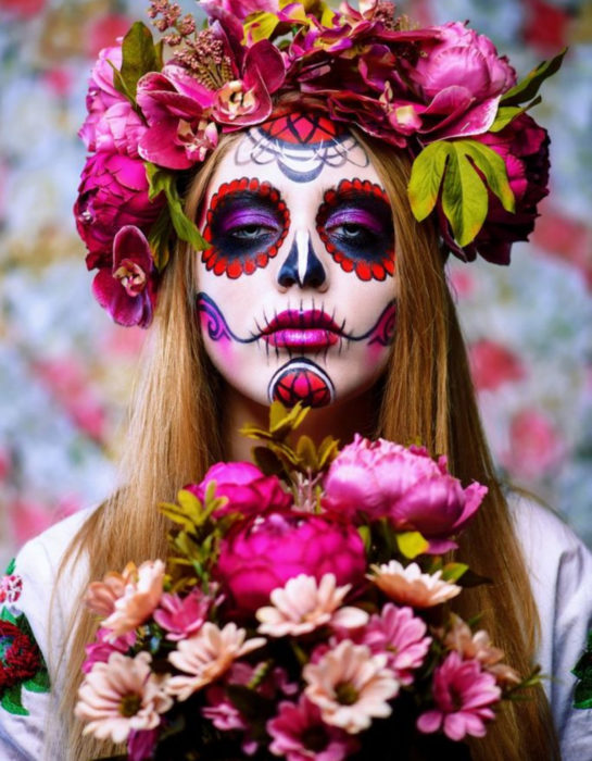
M 287 761 L 341 761 L 358 749 L 355 738 L 320 719 L 320 711 L 305 696 L 298 703 L 281 702 L 277 716 L 267 722 L 273 737 L 269 750 Z

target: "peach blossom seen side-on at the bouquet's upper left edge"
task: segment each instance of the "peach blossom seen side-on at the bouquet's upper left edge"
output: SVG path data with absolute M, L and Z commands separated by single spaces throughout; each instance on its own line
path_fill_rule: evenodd
M 164 570 L 162 560 L 147 560 L 139 567 L 128 563 L 123 575 L 109 573 L 103 582 L 90 584 L 86 603 L 95 613 L 106 615 L 103 627 L 121 637 L 143 623 L 159 604 Z

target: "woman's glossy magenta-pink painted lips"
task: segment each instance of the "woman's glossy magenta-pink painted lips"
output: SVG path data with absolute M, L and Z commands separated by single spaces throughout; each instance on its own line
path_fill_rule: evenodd
M 326 349 L 340 339 L 339 325 L 319 309 L 299 312 L 288 309 L 276 315 L 261 332 L 269 346 L 278 349 Z

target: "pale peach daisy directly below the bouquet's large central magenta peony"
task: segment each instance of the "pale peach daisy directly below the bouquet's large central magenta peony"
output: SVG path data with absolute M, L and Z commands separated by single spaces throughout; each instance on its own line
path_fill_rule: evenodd
M 272 637 L 308 634 L 325 624 L 357 628 L 368 621 L 368 614 L 360 608 L 340 608 L 351 584 L 337 586 L 335 574 L 326 573 L 320 582 L 301 573 L 290 578 L 286 586 L 270 594 L 273 606 L 260 608 L 255 613 L 261 625 L 259 632 Z

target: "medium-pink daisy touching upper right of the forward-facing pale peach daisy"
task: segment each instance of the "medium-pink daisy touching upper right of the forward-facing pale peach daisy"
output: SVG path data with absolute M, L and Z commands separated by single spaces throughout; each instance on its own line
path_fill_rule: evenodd
M 413 614 L 411 608 L 398 608 L 392 602 L 371 616 L 364 629 L 362 644 L 371 652 L 386 652 L 388 665 L 399 682 L 411 685 L 413 671 L 418 669 L 429 650 L 431 637 L 426 636 L 427 626 Z

